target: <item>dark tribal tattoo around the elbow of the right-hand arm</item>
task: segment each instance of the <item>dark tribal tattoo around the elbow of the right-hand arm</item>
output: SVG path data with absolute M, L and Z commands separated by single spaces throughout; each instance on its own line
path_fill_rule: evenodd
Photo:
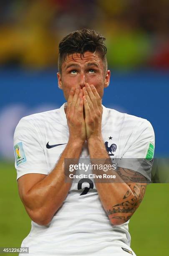
M 128 184 L 129 189 L 126 191 L 123 201 L 113 205 L 111 209 L 107 210 L 107 214 L 110 219 L 119 220 L 121 223 L 121 221 L 128 221 L 139 207 L 146 192 L 147 180 L 142 174 L 130 169 L 119 168 L 117 172 Z M 136 183 L 136 181 L 138 182 Z

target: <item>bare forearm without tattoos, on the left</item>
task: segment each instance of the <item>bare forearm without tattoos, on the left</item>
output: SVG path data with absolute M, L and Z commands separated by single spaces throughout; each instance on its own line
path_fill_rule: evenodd
M 61 207 L 71 187 L 71 182 L 65 182 L 64 159 L 79 159 L 82 146 L 82 143 L 69 141 L 53 171 L 26 193 L 24 204 L 35 222 L 42 216 L 42 221 L 48 223 Z

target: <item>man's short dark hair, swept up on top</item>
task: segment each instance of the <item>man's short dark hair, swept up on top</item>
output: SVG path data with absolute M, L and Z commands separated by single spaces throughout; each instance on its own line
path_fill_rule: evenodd
M 97 51 L 101 59 L 104 62 L 105 72 L 107 70 L 106 45 L 103 43 L 106 38 L 101 36 L 94 30 L 83 28 L 78 31 L 74 31 L 65 36 L 59 44 L 58 55 L 58 71 L 61 73 L 61 66 L 63 61 L 66 61 L 66 56 L 70 54 L 81 54 L 84 56 L 86 51 Z

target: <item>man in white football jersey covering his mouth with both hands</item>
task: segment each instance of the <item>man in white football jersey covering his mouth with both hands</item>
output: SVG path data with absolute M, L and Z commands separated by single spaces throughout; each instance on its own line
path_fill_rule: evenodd
M 18 189 L 32 219 L 22 246 L 29 247 L 31 256 L 135 255 L 128 223 L 149 179 L 144 164 L 120 161 L 119 169 L 110 170 L 116 182 L 65 179 L 66 159 L 110 164 L 111 158 L 134 158 L 151 165 L 153 158 L 151 124 L 101 105 L 110 80 L 104 40 L 89 29 L 63 38 L 58 86 L 67 103 L 22 118 L 15 130 Z

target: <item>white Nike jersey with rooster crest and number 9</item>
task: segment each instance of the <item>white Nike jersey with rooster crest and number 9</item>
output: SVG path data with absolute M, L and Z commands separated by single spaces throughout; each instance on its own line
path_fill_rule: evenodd
M 102 137 L 107 148 L 114 145 L 112 152 L 107 149 L 114 159 L 145 159 L 149 154 L 152 157 L 154 152 L 154 131 L 149 121 L 104 106 Z M 17 179 L 28 173 L 48 175 L 66 147 L 68 138 L 64 104 L 60 109 L 22 118 L 14 134 Z M 87 144 L 83 146 L 81 158 L 90 159 Z M 144 168 L 134 169 L 130 163 L 121 167 L 133 169 L 149 179 Z M 31 231 L 22 243 L 22 246 L 29 247 L 31 256 L 112 255 L 117 246 L 131 251 L 129 221 L 112 225 L 94 182 L 93 188 L 84 195 L 82 192 L 86 184 L 79 188 L 78 183 L 78 180 L 72 183 L 63 205 L 48 225 L 32 221 Z M 121 249 L 121 253 L 116 255 L 123 253 L 128 254 Z

